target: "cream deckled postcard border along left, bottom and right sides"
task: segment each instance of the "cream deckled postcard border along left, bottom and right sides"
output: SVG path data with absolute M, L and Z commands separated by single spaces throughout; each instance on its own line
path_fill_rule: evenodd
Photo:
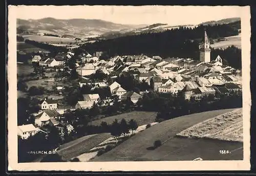
M 193 8 L 194 6 L 191 6 Z M 219 6 L 221 7 L 221 6 Z M 250 7 L 229 6 L 241 11 L 243 148 L 241 161 L 136 161 L 136 162 L 54 162 L 18 163 L 17 158 L 17 67 L 16 12 L 19 6 L 8 6 L 8 170 L 36 171 L 195 171 L 250 170 Z M 75 7 L 72 7 L 75 8 Z

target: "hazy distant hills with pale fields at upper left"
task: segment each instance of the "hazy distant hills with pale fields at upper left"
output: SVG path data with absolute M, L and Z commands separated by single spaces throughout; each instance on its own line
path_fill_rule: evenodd
M 49 33 L 70 37 L 98 36 L 110 31 L 141 28 L 142 25 L 118 24 L 100 19 L 17 19 L 18 32 Z

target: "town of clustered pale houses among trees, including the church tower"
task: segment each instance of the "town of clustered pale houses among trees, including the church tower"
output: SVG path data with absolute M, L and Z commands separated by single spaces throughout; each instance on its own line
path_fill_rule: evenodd
M 135 135 L 141 125 L 148 128 L 182 115 L 242 107 L 242 72 L 226 65 L 221 55 L 210 60 L 207 31 L 202 33 L 199 59 L 144 54 L 105 58 L 104 51 L 75 49 L 55 56 L 33 53 L 28 60 L 33 71 L 18 75 L 20 150 L 53 150 L 100 133 L 111 133 L 117 140 L 130 132 Z M 104 121 L 140 111 L 157 114 L 146 123 L 132 116 L 120 123 Z M 96 120 L 101 123 L 96 125 Z M 66 159 L 72 161 L 81 154 Z M 38 159 L 30 157 L 26 162 Z

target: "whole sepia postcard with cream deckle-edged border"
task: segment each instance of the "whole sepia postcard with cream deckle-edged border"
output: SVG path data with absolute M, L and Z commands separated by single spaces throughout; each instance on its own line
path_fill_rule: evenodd
M 250 7 L 9 6 L 8 169 L 250 169 Z

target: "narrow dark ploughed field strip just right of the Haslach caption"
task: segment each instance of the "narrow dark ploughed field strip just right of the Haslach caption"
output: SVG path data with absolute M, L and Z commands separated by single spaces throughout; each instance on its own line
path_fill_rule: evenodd
M 65 160 L 70 160 L 83 153 L 89 152 L 91 148 L 110 137 L 111 135 L 109 133 L 81 137 L 75 141 L 63 144 L 60 149 L 57 150 L 57 154 Z

